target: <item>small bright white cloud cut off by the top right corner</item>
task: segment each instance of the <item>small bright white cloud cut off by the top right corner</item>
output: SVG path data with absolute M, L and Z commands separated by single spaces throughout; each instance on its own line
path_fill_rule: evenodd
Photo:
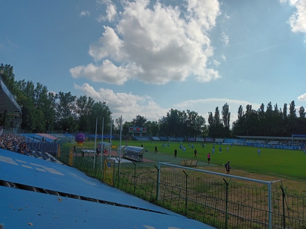
M 291 26 L 291 31 L 294 33 L 306 33 L 306 1 L 290 0 L 289 3 L 291 6 L 296 8 L 296 12 L 294 12 L 294 14 L 292 14 L 288 20 Z

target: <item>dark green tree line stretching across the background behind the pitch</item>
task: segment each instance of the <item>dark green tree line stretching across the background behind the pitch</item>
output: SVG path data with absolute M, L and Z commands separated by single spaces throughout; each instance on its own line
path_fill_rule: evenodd
M 101 124 L 104 120 L 104 133 L 109 133 L 112 125 L 113 133 L 119 134 L 120 118 L 111 121 L 112 111 L 106 102 L 94 101 L 93 98 L 74 96 L 71 92 L 49 92 L 45 85 L 32 81 L 15 80 L 13 66 L 0 65 L 3 70 L 2 80 L 22 110 L 21 129 L 28 132 L 95 132 L 96 119 Z M 6 114 L 0 114 L 0 126 L 5 126 Z M 146 127 L 147 135 L 177 137 L 233 137 L 234 135 L 249 136 L 291 136 L 292 133 L 303 133 L 306 129 L 305 110 L 299 108 L 296 116 L 294 101 L 290 103 L 287 115 L 287 104 L 278 109 L 272 108 L 271 102 L 258 110 L 251 105 L 246 111 L 240 105 L 238 119 L 230 127 L 231 112 L 227 103 L 222 106 L 221 117 L 219 108 L 214 114 L 209 112 L 208 125 L 205 118 L 191 110 L 170 109 L 166 116 L 158 121 L 147 121 L 143 116 L 136 116 L 132 121 L 122 120 L 122 134 L 129 135 L 129 127 Z M 102 133 L 102 126 L 97 126 L 97 133 Z

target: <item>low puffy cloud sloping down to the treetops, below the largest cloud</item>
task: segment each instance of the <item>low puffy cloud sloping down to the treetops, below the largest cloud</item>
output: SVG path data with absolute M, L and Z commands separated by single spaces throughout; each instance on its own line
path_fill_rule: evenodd
M 133 120 L 137 115 L 144 116 L 148 121 L 158 121 L 169 109 L 163 109 L 149 96 L 133 95 L 132 93 L 115 93 L 113 90 L 100 88 L 95 90 L 88 83 L 74 84 L 74 88 L 80 90 L 96 102 L 105 101 L 113 112 L 113 117 L 122 115 L 124 120 Z

